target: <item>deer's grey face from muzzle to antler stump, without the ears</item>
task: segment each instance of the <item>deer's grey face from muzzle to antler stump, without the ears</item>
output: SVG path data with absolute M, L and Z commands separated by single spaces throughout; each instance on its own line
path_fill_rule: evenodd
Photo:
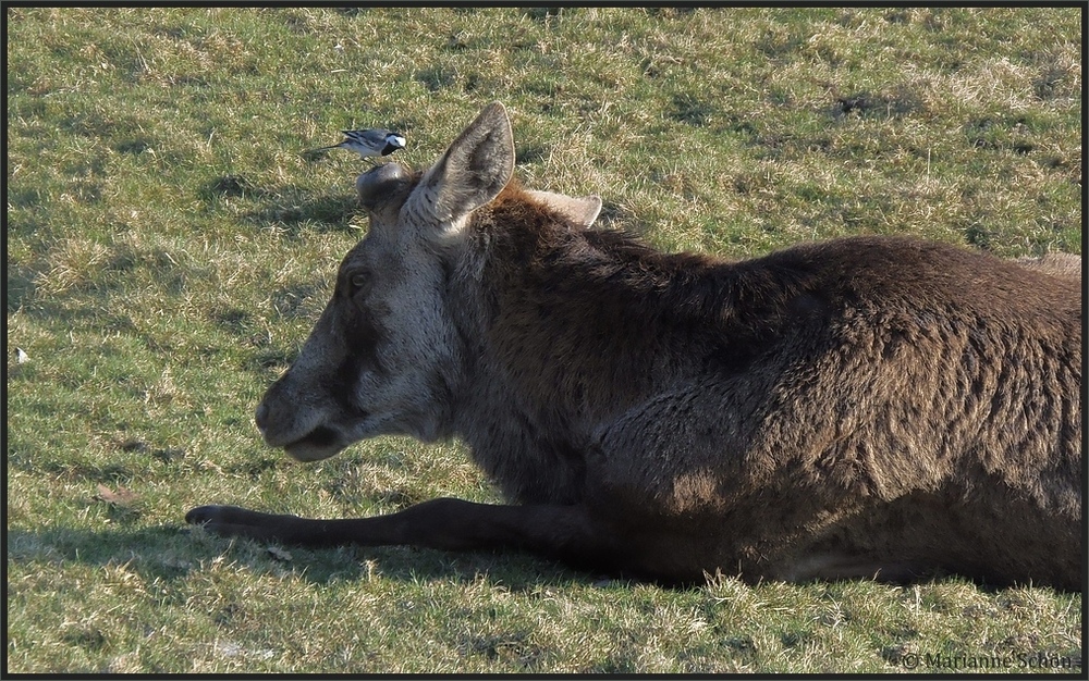
M 442 262 L 419 238 L 432 226 L 431 193 L 421 185 L 405 198 L 406 174 L 376 170 L 381 198 L 369 207 L 370 231 L 342 261 L 332 300 L 258 408 L 268 443 L 301 460 L 379 434 L 445 434 L 461 362 Z

